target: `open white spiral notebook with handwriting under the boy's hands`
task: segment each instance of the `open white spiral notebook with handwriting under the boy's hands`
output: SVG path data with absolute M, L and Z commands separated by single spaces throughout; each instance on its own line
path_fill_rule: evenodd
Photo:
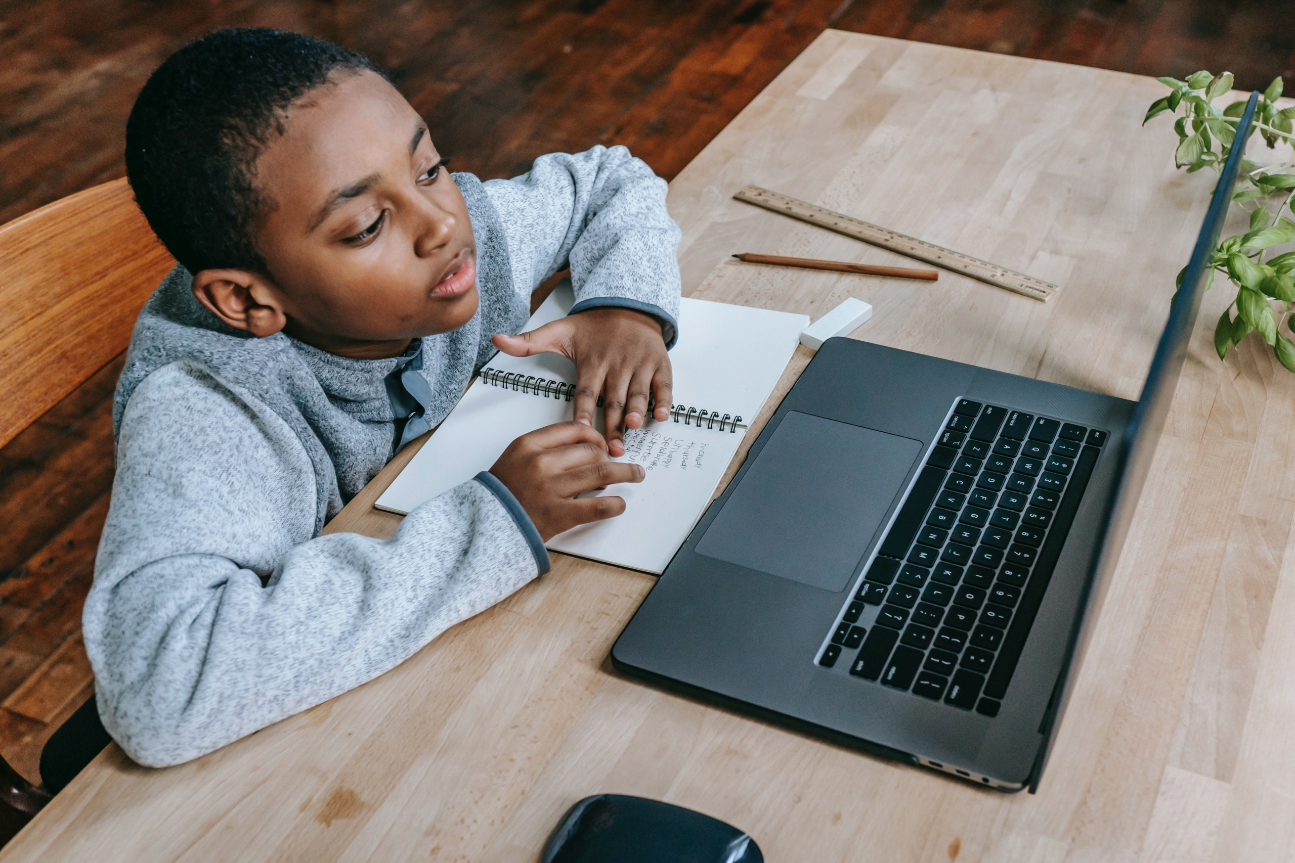
M 575 304 L 569 283 L 531 316 L 526 329 L 565 317 Z M 787 361 L 804 314 L 684 298 L 680 338 L 670 352 L 675 379 L 671 419 L 649 421 L 625 435 L 615 461 L 642 464 L 642 483 L 609 486 L 625 511 L 549 540 L 553 551 L 660 573 L 715 493 L 746 426 L 760 411 Z M 571 419 L 575 364 L 544 353 L 497 353 L 418 454 L 378 498 L 379 510 L 404 515 L 479 471 L 517 437 Z M 594 418 L 602 428 L 602 410 Z

